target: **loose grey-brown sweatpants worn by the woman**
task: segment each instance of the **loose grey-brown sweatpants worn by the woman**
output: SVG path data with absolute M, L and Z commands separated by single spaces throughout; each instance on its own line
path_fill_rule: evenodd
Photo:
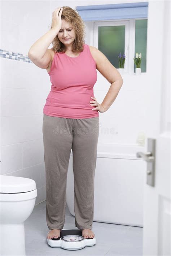
M 94 177 L 99 117 L 72 119 L 43 116 L 46 174 L 46 221 L 50 230 L 63 229 L 66 181 L 73 151 L 75 227 L 92 229 Z

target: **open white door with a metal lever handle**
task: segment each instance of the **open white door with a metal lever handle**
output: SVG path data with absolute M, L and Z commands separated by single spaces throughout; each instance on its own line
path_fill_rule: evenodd
M 155 25 L 157 19 L 160 26 Z M 151 75 L 146 92 L 147 140 L 143 153 L 153 150 L 150 138 L 154 139 L 155 152 L 154 164 L 147 162 L 146 168 L 143 255 L 171 255 L 170 45 L 170 1 L 149 1 L 147 72 Z

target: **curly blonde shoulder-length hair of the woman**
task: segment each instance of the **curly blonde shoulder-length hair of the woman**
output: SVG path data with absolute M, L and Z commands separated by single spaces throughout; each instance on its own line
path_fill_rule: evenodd
M 73 52 L 82 52 L 83 51 L 83 44 L 85 44 L 84 36 L 86 32 L 84 29 L 86 26 L 82 18 L 79 16 L 78 12 L 72 9 L 69 6 L 62 6 L 62 15 L 61 19 L 65 19 L 67 22 L 71 23 L 75 31 L 75 40 L 72 45 Z M 52 29 L 52 26 L 51 26 Z M 55 52 L 65 52 L 66 47 L 65 45 L 58 39 L 58 36 L 53 39 L 52 41 L 52 50 Z

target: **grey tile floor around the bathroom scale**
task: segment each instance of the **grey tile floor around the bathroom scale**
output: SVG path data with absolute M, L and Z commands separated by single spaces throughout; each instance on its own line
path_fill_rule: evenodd
M 76 229 L 75 217 L 66 207 L 65 225 L 63 229 Z M 46 201 L 35 205 L 30 217 L 25 221 L 26 255 L 142 255 L 142 227 L 124 226 L 93 221 L 93 232 L 96 244 L 81 250 L 65 250 L 52 248 L 47 244 L 49 231 L 46 223 Z

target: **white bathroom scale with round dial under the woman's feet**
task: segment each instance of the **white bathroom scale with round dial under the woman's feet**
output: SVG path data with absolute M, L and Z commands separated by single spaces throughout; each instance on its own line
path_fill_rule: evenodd
M 96 244 L 96 238 L 82 237 L 82 231 L 79 229 L 62 229 L 60 237 L 47 238 L 47 242 L 51 247 L 61 247 L 66 250 L 80 250 L 86 246 L 94 246 Z

